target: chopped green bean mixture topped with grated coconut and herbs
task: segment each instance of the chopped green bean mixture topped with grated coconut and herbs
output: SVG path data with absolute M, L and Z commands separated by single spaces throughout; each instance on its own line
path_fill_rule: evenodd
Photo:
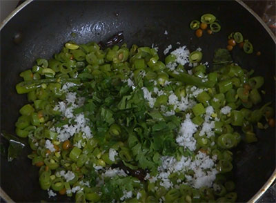
M 228 50 L 215 52 L 214 72 L 202 55 L 180 46 L 164 63 L 155 48 L 69 42 L 21 72 L 29 104 L 16 133 L 41 189 L 76 202 L 235 202 L 230 149 L 256 142 L 253 124 L 274 110 L 250 110 L 264 78 Z

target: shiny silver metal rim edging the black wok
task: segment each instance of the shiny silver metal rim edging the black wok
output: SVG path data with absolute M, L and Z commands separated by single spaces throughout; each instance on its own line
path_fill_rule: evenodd
M 8 17 L 6 17 L 6 19 L 4 19 L 1 24 L 0 24 L 0 32 L 1 30 L 6 26 L 6 24 L 17 14 L 19 13 L 23 8 L 25 8 L 26 6 L 28 6 L 29 3 L 31 3 L 34 0 L 26 0 L 24 1 L 21 5 L 19 5 L 17 8 L 15 8 L 9 15 Z M 246 5 L 246 3 L 244 3 L 242 0 L 235 0 L 237 1 L 237 3 L 239 3 L 241 6 L 243 6 L 248 12 L 250 12 L 250 14 L 252 14 L 257 21 L 259 21 L 259 23 L 261 23 L 261 25 L 263 26 L 263 28 L 266 30 L 266 32 L 268 32 L 268 34 L 270 35 L 271 39 L 273 39 L 275 45 L 276 45 L 276 36 L 273 34 L 272 30 L 270 30 L 270 28 L 268 28 L 268 26 L 266 25 L 266 23 L 264 23 L 264 21 L 262 20 L 261 17 L 259 17 L 259 15 L 253 11 L 249 6 Z M 270 175 L 270 177 L 268 178 L 268 180 L 266 181 L 266 183 L 262 186 L 261 189 L 259 189 L 259 191 L 257 191 L 257 193 L 250 198 L 250 200 L 248 200 L 248 203 L 251 202 L 256 202 L 257 200 L 259 200 L 259 198 L 268 190 L 268 188 L 271 186 L 271 184 L 273 184 L 273 182 L 276 180 L 276 168 L 273 171 L 273 173 Z M 3 200 L 5 200 L 6 202 L 12 202 L 15 203 L 14 200 L 12 200 L 12 198 L 5 193 L 5 191 L 3 191 L 3 189 L 0 186 L 0 197 L 3 198 Z

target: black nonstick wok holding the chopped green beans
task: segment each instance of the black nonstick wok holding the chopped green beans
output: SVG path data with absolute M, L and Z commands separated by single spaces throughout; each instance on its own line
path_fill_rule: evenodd
M 157 44 L 162 58 L 164 48 L 169 44 L 176 48 L 177 41 L 191 49 L 199 46 L 204 61 L 212 61 L 215 48 L 226 47 L 230 32 L 242 32 L 262 55 L 246 55 L 235 49 L 233 59 L 244 68 L 253 68 L 256 75 L 264 76 L 264 102 L 275 101 L 275 39 L 237 1 L 32 1 L 25 4 L 28 5 L 1 29 L 1 131 L 14 134 L 19 108 L 26 102 L 26 97 L 17 95 L 14 88 L 20 81 L 19 72 L 32 67 L 38 57 L 52 57 L 66 41 L 105 41 L 121 30 L 129 46 Z M 219 19 L 221 32 L 197 39 L 188 25 L 206 12 Z M 164 35 L 165 30 L 168 35 Z M 18 33 L 21 41 L 14 43 L 13 37 Z M 235 153 L 233 179 L 237 183 L 238 202 L 250 200 L 275 176 L 275 128 L 257 131 L 257 137 L 259 142 L 240 144 L 239 153 Z M 31 165 L 28 153 L 30 149 L 24 148 L 13 162 L 1 157 L 1 189 L 15 202 L 49 201 L 47 192 L 39 187 L 38 168 Z M 54 200 L 70 201 L 61 197 Z

